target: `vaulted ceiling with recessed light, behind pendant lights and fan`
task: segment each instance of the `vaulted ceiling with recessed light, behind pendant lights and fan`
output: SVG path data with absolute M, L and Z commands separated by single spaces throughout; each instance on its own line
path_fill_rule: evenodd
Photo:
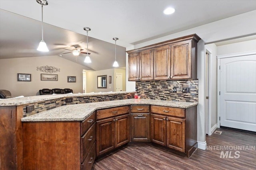
M 256 10 L 255 0 L 48 0 L 44 6 L 44 40 L 49 52 L 36 51 L 41 40 L 41 6 L 36 0 L 0 0 L 0 59 L 62 55 L 89 70 L 125 66 L 125 47 Z M 163 14 L 169 6 L 176 9 Z M 74 57 L 63 48 L 79 45 L 86 55 Z M 200 36 L 200 35 L 199 35 Z

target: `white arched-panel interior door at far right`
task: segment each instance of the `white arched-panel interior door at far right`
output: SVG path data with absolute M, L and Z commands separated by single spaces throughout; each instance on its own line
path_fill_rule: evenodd
M 220 125 L 256 131 L 256 55 L 220 59 Z

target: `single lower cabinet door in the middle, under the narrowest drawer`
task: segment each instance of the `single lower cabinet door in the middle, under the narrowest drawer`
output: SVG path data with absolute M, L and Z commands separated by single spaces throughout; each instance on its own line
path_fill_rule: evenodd
M 149 113 L 131 114 L 131 141 L 150 141 Z

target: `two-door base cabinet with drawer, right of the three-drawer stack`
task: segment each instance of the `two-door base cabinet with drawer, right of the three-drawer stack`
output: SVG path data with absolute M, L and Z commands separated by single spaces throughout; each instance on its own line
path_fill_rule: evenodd
M 124 113 L 126 114 L 122 115 Z M 130 141 L 130 115 L 128 113 L 129 106 L 97 111 L 96 156 Z

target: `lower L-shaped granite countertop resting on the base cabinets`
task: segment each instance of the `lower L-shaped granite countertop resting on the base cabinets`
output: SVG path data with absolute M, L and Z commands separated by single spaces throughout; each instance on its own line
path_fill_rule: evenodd
M 97 109 L 126 105 L 157 105 L 178 108 L 189 108 L 198 105 L 197 102 L 173 102 L 168 100 L 150 100 L 150 99 L 124 99 L 107 102 L 95 102 L 87 104 L 74 104 L 57 107 L 42 113 L 37 113 L 24 117 L 21 121 L 82 121 L 90 116 Z

